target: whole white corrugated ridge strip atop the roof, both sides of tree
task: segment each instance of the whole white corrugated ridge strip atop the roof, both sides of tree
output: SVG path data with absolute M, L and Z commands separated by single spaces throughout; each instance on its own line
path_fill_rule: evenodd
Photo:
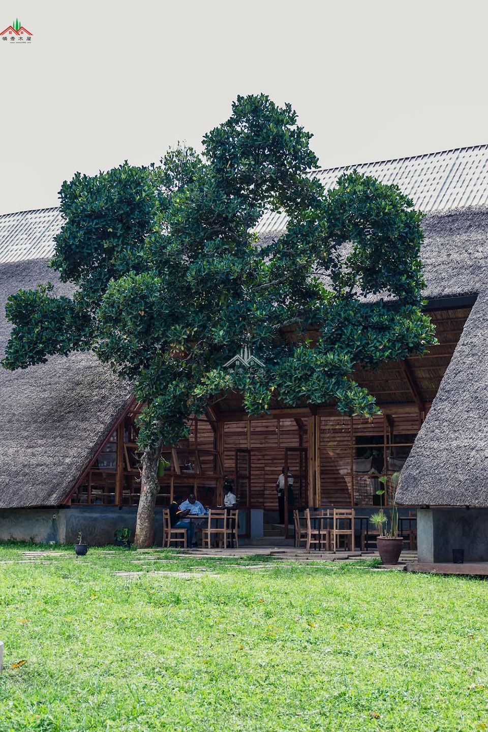
M 488 145 L 310 171 L 309 175 L 331 188 L 341 173 L 353 168 L 383 183 L 396 183 L 424 212 L 488 205 Z M 285 225 L 285 214 L 269 213 L 256 231 L 279 231 Z M 53 236 L 60 228 L 57 208 L 0 215 L 0 264 L 51 257 Z

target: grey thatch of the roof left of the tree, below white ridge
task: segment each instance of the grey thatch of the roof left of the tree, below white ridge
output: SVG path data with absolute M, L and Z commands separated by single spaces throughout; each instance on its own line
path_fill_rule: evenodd
M 7 296 L 50 280 L 46 260 L 0 265 L 0 354 L 10 334 Z M 56 294 L 69 294 L 56 284 Z M 14 372 L 0 368 L 0 508 L 56 506 L 74 487 L 131 389 L 93 354 L 54 356 Z

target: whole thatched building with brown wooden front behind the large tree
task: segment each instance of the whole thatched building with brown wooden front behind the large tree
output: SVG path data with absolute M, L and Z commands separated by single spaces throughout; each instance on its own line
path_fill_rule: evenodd
M 190 491 L 217 505 L 223 480 L 233 477 L 241 531 L 252 535 L 253 516 L 276 520 L 275 485 L 288 466 L 296 507 L 372 511 L 380 478 L 401 469 L 402 506 L 488 512 L 488 146 L 358 169 L 399 184 L 427 212 L 424 295 L 439 344 L 422 358 L 358 370 L 381 409 L 372 420 L 342 417 L 329 404 L 278 403 L 247 419 L 239 395 L 227 395 L 192 420 L 187 440 L 165 449 L 170 468 L 159 480 L 159 507 Z M 311 174 L 329 186 L 341 172 Z M 258 234 L 277 236 L 285 225 L 266 217 Z M 56 295 L 71 293 L 48 269 L 60 226 L 58 209 L 0 216 L 1 352 L 10 293 L 47 280 Z M 75 353 L 0 370 L 0 394 L 9 405 L 0 422 L 0 539 L 68 541 L 86 527 L 102 542 L 113 528 L 134 525 L 138 405 L 129 385 L 93 354 Z

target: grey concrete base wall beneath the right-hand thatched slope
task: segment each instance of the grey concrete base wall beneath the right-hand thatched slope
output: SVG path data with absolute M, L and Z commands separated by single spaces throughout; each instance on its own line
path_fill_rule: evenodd
M 465 561 L 488 561 L 488 509 L 419 509 L 418 561 L 453 560 L 463 549 Z

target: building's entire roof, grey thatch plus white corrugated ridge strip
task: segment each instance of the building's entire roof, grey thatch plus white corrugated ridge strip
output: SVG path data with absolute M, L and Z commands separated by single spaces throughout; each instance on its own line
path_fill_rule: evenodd
M 429 211 L 422 259 L 431 305 L 455 309 L 466 305 L 466 296 L 477 298 L 403 468 L 397 498 L 410 505 L 488 506 L 488 146 L 358 168 L 397 182 Z M 330 185 L 341 172 L 311 175 Z M 283 225 L 282 217 L 268 216 L 258 231 L 277 236 Z M 10 332 L 7 295 L 57 281 L 45 258 L 60 226 L 59 209 L 0 216 L 0 263 L 10 263 L 0 264 L 0 354 Z M 68 291 L 59 283 L 56 288 Z M 55 506 L 110 433 L 130 389 L 93 355 L 72 354 L 14 373 L 0 369 L 0 396 L 0 508 Z

